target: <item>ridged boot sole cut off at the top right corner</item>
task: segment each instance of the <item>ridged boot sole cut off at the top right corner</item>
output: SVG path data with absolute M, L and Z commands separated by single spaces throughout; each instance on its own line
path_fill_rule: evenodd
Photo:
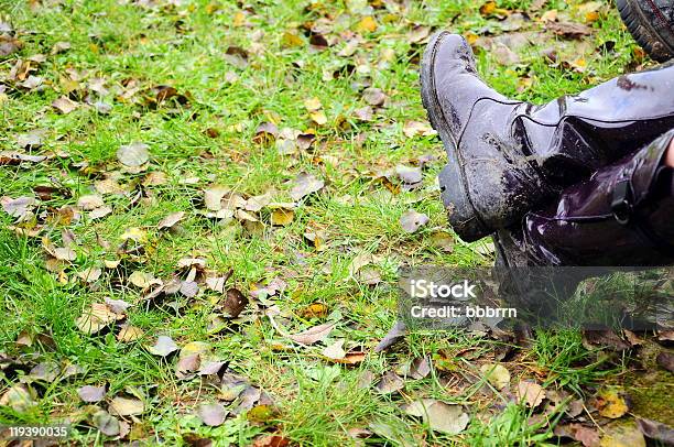
M 655 61 L 674 57 L 672 0 L 616 0 L 620 17 L 634 40 Z

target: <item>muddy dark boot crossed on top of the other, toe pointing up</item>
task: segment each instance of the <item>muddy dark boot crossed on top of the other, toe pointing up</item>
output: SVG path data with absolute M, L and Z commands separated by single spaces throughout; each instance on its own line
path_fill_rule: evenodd
M 443 201 L 467 241 L 520 221 L 563 187 L 674 128 L 674 65 L 534 106 L 487 86 L 467 42 L 443 32 L 426 48 L 421 81 L 449 159 L 439 175 Z

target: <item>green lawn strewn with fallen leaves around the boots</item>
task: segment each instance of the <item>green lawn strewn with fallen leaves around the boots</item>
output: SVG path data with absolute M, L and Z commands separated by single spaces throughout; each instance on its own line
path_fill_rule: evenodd
M 635 417 L 674 419 L 666 334 L 374 349 L 399 266 L 493 262 L 439 200 L 418 62 L 444 29 L 534 102 L 653 65 L 605 1 L 0 0 L 0 423 L 68 423 L 74 445 L 637 446 Z

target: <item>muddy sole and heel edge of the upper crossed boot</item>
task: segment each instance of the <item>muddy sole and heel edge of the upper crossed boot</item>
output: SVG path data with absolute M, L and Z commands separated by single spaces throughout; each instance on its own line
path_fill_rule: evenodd
M 435 92 L 435 78 L 433 76 L 435 55 L 446 35 L 449 35 L 449 33 L 441 31 L 428 41 L 421 64 L 421 96 L 428 121 L 433 129 L 438 132 L 447 153 L 448 163 L 441 172 L 438 179 L 443 203 L 448 211 L 449 224 L 461 239 L 472 242 L 489 236 L 492 230 L 483 224 L 475 206 L 470 203 L 468 183 L 461 170 L 464 159 L 449 131 L 449 124 L 443 115 Z

